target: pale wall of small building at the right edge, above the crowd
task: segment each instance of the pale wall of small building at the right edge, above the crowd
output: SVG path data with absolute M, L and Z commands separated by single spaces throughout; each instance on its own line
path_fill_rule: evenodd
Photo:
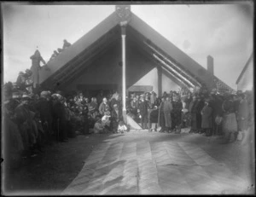
M 253 90 L 253 53 L 236 80 L 237 90 Z

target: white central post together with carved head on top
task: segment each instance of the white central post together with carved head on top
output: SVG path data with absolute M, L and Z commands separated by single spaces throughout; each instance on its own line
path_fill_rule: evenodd
M 121 26 L 121 37 L 122 37 L 122 106 L 123 106 L 123 118 L 125 124 L 126 119 L 126 59 L 125 59 L 125 36 L 126 26 L 131 20 L 131 6 L 130 5 L 117 5 L 116 13 Z

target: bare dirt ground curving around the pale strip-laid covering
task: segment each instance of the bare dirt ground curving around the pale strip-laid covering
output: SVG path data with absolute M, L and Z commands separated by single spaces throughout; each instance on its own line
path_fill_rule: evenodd
M 3 173 L 4 194 L 61 194 L 61 191 L 79 174 L 92 149 L 103 140 L 119 137 L 119 141 L 136 141 L 147 138 L 150 142 L 183 141 L 194 142 L 207 154 L 227 165 L 231 171 L 243 178 L 252 178 L 254 171 L 254 151 L 249 145 L 241 147 L 239 143 L 219 144 L 219 136 L 209 138 L 199 134 L 183 133 L 170 135 L 148 132 L 134 132 L 131 135 L 93 134 L 76 136 L 69 142 L 54 143 L 44 148 L 43 154 L 31 159 L 22 159 L 15 169 Z M 150 139 L 149 139 L 150 138 Z M 254 146 L 254 145 L 253 145 Z M 253 180 L 254 181 L 254 180 Z M 253 182 L 252 181 L 252 182 Z M 254 182 L 253 182 L 254 183 Z M 254 184 L 248 191 L 254 190 Z

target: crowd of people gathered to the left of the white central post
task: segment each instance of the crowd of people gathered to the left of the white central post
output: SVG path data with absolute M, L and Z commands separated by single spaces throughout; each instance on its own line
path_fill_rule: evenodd
M 4 85 L 3 128 L 6 150 L 11 156 L 36 156 L 44 146 L 68 142 L 68 138 L 90 133 L 125 132 L 118 93 L 85 97 L 61 91 L 31 93 L 12 83 Z M 26 90 L 24 90 L 26 89 Z

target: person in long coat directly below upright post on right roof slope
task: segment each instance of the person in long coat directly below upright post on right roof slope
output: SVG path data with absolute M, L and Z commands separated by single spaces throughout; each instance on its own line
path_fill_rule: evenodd
M 212 107 L 209 105 L 210 100 L 205 100 L 205 106 L 201 110 L 201 128 L 206 136 L 212 135 Z

